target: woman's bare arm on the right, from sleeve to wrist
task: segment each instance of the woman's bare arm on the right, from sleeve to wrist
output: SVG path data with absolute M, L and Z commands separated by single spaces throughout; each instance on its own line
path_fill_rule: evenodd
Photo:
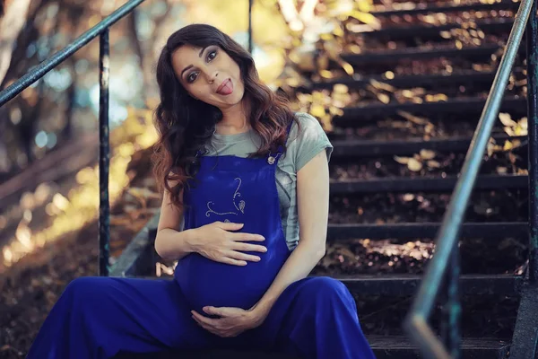
M 297 206 L 299 244 L 262 299 L 252 308 L 257 320 L 265 320 L 288 285 L 308 276 L 325 256 L 329 213 L 329 169 L 325 149 L 297 172 Z

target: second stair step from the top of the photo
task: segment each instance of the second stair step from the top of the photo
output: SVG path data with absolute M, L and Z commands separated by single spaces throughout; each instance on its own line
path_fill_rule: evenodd
M 477 21 L 476 27 L 487 33 L 507 33 L 514 26 L 513 18 L 498 18 L 498 19 L 486 19 Z M 409 39 L 412 37 L 418 37 L 421 39 L 437 39 L 440 38 L 441 31 L 450 31 L 452 29 L 461 28 L 461 24 L 457 22 L 446 23 L 443 25 L 411 25 L 411 26 L 391 26 L 385 29 L 369 32 L 355 32 L 356 35 L 362 35 L 369 39 Z

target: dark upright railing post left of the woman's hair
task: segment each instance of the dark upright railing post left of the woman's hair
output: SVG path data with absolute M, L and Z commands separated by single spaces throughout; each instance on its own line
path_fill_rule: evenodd
M 108 77 L 110 51 L 108 28 L 100 34 L 99 54 L 99 276 L 108 276 L 110 206 L 108 203 Z

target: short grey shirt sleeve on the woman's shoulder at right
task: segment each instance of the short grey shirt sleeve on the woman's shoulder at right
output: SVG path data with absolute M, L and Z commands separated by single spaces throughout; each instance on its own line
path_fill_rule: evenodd
M 293 158 L 295 171 L 298 172 L 317 153 L 323 150 L 325 150 L 327 162 L 329 162 L 333 153 L 333 144 L 329 141 L 317 118 L 305 112 L 297 112 L 295 116 L 299 121 L 299 128 L 297 123 L 291 125 L 290 142 L 288 143 L 288 152 Z

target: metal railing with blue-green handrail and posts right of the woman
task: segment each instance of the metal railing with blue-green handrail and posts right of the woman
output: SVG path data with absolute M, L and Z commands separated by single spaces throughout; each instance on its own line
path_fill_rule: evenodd
M 532 15 L 531 15 L 532 14 Z M 530 20 L 529 20 L 530 16 Z M 528 23 L 527 23 L 528 22 Z M 510 31 L 508 42 L 499 69 L 490 88 L 488 99 L 482 111 L 478 127 L 474 131 L 471 146 L 467 152 L 463 169 L 456 183 L 447 212 L 436 239 L 436 251 L 427 267 L 419 291 L 412 303 L 412 310 L 404 321 L 404 329 L 412 340 L 420 347 L 422 355 L 427 358 L 459 358 L 461 349 L 461 333 L 459 317 L 461 306 L 458 299 L 459 249 L 458 234 L 469 197 L 473 191 L 478 171 L 482 164 L 482 155 L 490 139 L 491 129 L 499 115 L 500 103 L 503 99 L 508 78 L 514 65 L 517 48 L 526 29 L 527 44 L 527 106 L 528 106 L 528 138 L 529 138 L 529 281 L 538 280 L 538 122 L 537 95 L 538 86 L 537 57 L 537 15 L 534 0 L 521 0 L 516 13 L 514 26 Z M 439 339 L 428 320 L 438 298 L 441 285 L 445 284 L 447 301 L 444 303 L 441 320 L 441 339 Z M 529 313 L 531 314 L 531 313 Z M 535 315 L 535 314 L 534 314 Z

